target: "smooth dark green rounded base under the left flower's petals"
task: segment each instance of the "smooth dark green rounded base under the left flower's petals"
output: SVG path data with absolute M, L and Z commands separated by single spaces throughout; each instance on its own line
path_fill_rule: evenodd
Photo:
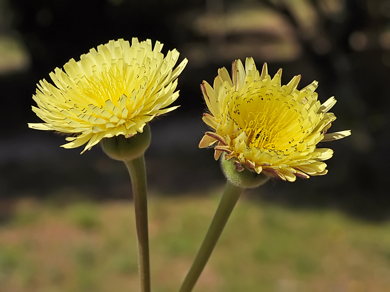
M 130 138 L 124 135 L 104 138 L 100 141 L 103 151 L 115 160 L 133 160 L 141 156 L 150 145 L 150 126 L 146 124 L 142 133 L 137 133 Z

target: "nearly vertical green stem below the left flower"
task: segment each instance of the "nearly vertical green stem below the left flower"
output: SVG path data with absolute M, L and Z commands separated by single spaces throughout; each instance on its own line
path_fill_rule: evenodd
M 144 154 L 124 160 L 133 186 L 135 224 L 138 239 L 138 270 L 141 292 L 150 292 L 148 206 L 146 201 L 146 170 Z

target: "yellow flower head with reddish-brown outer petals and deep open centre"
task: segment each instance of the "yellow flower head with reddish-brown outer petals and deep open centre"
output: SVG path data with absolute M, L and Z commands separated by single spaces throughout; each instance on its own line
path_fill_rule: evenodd
M 199 147 L 218 142 L 215 160 L 224 151 L 238 171 L 248 168 L 289 181 L 326 174 L 322 160 L 329 159 L 333 150 L 316 148 L 317 144 L 351 135 L 351 131 L 326 134 L 336 119 L 328 113 L 336 103 L 334 97 L 321 105 L 314 92 L 317 81 L 297 90 L 300 75 L 281 86 L 282 69 L 271 78 L 267 64 L 259 73 L 252 58 L 246 59 L 245 69 L 240 60 L 233 62 L 232 75 L 230 79 L 222 68 L 214 88 L 206 81 L 201 84 L 210 111 L 203 121 L 215 132 L 206 132 Z

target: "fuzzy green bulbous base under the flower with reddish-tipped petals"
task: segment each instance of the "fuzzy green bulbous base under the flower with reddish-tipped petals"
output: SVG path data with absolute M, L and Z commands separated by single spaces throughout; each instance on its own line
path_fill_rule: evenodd
M 244 167 L 244 170 L 238 171 L 234 162 L 234 158 L 226 159 L 225 155 L 221 155 L 221 168 L 226 179 L 233 185 L 240 188 L 257 188 L 265 184 L 270 176 L 264 173 L 256 173 Z

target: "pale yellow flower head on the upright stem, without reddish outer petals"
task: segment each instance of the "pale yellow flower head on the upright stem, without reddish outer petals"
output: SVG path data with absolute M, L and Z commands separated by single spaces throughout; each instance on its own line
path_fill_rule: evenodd
M 39 81 L 32 110 L 46 123 L 28 124 L 38 130 L 71 133 L 65 148 L 87 143 L 87 149 L 103 138 L 142 133 L 154 117 L 176 109 L 177 77 L 187 65 L 185 59 L 175 70 L 179 52 L 161 53 L 163 44 L 119 39 L 91 49 L 80 61 L 71 59 L 50 73 L 54 84 Z M 82 152 L 82 153 L 83 153 Z

